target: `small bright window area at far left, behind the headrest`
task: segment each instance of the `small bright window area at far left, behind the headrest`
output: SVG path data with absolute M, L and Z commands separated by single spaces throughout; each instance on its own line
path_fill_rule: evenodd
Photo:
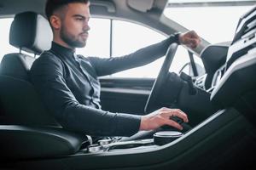
M 9 44 L 9 28 L 13 20 L 13 18 L 0 19 L 0 61 L 3 59 L 3 55 L 19 51 L 17 48 Z

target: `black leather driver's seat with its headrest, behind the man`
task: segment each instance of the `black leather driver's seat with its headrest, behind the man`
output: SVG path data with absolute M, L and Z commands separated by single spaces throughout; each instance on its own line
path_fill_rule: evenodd
M 9 43 L 20 49 L 20 53 L 6 54 L 0 65 L 0 101 L 3 107 L 2 124 L 33 126 L 57 126 L 49 116 L 38 94 L 29 81 L 29 70 L 34 56 L 50 48 L 52 31 L 42 15 L 25 12 L 15 15 L 9 34 Z M 4 114 L 4 115 L 3 115 Z

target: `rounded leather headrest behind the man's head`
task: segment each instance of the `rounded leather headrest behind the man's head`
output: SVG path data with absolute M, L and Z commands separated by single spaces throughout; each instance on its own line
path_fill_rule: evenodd
M 53 33 L 48 20 L 41 14 L 24 12 L 15 15 L 9 34 L 9 43 L 28 53 L 41 54 L 51 46 Z

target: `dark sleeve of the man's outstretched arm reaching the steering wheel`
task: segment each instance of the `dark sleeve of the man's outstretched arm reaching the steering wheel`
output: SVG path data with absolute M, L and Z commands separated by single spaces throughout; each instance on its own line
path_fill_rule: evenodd
M 96 70 L 97 76 L 106 76 L 118 71 L 124 71 L 137 66 L 147 65 L 155 59 L 166 54 L 167 48 L 172 42 L 176 42 L 174 36 L 170 36 L 161 42 L 141 48 L 132 54 L 113 58 L 89 57 L 91 65 Z

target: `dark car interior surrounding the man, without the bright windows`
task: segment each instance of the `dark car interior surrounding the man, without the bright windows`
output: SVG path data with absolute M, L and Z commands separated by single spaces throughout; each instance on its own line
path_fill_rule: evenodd
M 32 63 L 53 38 L 45 2 L 0 1 L 0 18 L 14 17 L 9 43 L 18 51 L 5 54 L 0 65 L 0 169 L 256 167 L 255 7 L 241 15 L 230 42 L 202 39 L 200 47 L 188 48 L 193 75 L 170 71 L 177 52 L 177 43 L 172 43 L 155 79 L 101 79 L 102 110 L 143 115 L 161 107 L 178 108 L 189 113 L 189 124 L 174 117 L 184 126 L 182 132 L 165 126 L 121 141 L 92 142 L 87 134 L 62 128 L 30 82 Z M 162 12 L 167 4 L 90 0 L 90 10 L 92 16 L 139 21 L 166 35 L 187 31 L 166 21 Z M 194 55 L 203 62 L 202 74 Z

